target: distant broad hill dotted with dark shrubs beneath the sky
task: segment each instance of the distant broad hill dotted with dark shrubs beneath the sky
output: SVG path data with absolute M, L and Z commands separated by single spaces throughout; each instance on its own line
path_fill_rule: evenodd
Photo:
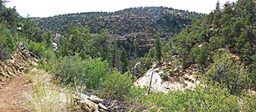
M 109 39 L 111 42 L 120 39 L 122 43 L 134 46 L 138 43 L 140 48 L 148 51 L 157 33 L 162 40 L 166 40 L 180 33 L 186 25 L 191 25 L 192 19 L 201 19 L 203 16 L 202 13 L 168 7 L 134 7 L 113 13 L 70 13 L 34 20 L 39 27 L 61 35 L 73 25 L 88 26 L 93 36 L 107 29 L 112 37 Z

